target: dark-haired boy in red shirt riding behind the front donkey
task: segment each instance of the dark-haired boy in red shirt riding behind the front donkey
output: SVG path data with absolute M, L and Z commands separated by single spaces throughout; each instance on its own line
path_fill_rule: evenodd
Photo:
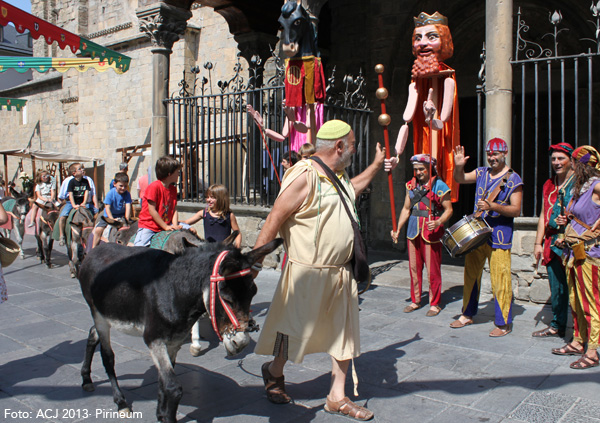
M 164 156 L 156 161 L 157 181 L 146 188 L 144 203 L 139 216 L 139 229 L 134 245 L 147 247 L 155 233 L 181 229 L 177 216 L 177 188 L 181 164 L 172 157 Z

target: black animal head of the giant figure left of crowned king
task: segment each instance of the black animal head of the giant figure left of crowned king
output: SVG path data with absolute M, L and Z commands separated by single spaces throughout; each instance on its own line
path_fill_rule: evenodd
M 296 0 L 281 8 L 281 50 L 286 57 L 319 56 L 316 30 L 306 9 Z

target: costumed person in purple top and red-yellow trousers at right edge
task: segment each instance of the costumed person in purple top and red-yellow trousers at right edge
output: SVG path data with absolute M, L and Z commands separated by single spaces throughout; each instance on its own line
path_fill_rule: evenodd
M 573 340 L 553 354 L 580 355 L 572 369 L 598 366 L 600 344 L 600 154 L 590 146 L 581 146 L 571 156 L 575 173 L 573 198 L 567 206 L 571 219 L 565 231 L 569 301 L 573 314 Z M 565 224 L 563 216 L 557 219 Z M 559 241 L 560 243 L 560 241 Z M 586 349 L 587 345 L 587 349 Z

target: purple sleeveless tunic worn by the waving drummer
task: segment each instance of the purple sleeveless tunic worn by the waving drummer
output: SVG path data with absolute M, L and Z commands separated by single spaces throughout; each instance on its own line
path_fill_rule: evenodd
M 482 198 L 486 198 L 503 179 L 504 176 L 497 179 L 490 178 L 489 167 L 477 168 L 474 211 L 477 211 L 477 202 Z M 512 172 L 506 181 L 506 185 L 500 190 L 500 193 L 494 202 L 503 205 L 510 204 L 510 196 L 515 192 L 515 189 L 521 185 L 523 185 L 521 177 L 517 175 L 516 172 Z M 481 217 L 485 219 L 493 230 L 492 237 L 488 241 L 488 243 L 492 245 L 492 248 L 510 250 L 512 246 L 514 218 L 502 216 L 493 211 L 485 211 Z

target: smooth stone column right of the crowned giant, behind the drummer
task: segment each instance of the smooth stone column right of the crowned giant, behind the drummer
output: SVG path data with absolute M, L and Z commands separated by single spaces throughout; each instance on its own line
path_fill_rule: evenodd
M 485 142 L 499 137 L 512 155 L 512 0 L 486 0 Z M 485 147 L 485 146 L 484 146 Z

